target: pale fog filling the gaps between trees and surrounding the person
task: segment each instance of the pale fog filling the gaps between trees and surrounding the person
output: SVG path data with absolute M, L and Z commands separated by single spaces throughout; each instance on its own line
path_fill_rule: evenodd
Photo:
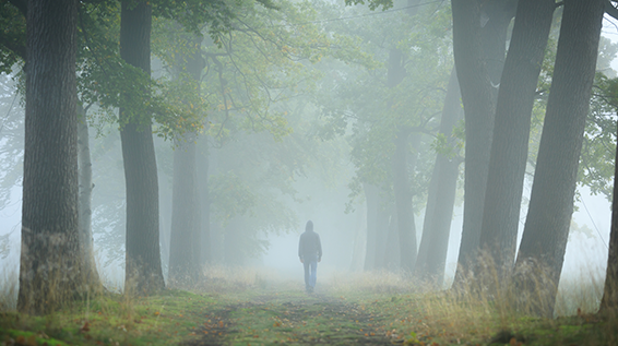
M 209 199 L 207 212 L 204 208 L 199 211 L 201 214 L 209 213 L 207 218 L 202 215 L 201 219 L 207 223 L 210 236 L 201 239 L 200 243 L 203 246 L 202 258 L 198 260 L 202 267 L 257 266 L 301 281 L 298 242 L 306 222 L 312 220 L 323 249 L 318 270 L 320 275 L 344 275 L 368 269 L 369 244 L 376 248 L 372 241 L 379 242 L 376 239 L 380 237 L 387 248 L 379 255 L 380 260 L 375 262 L 382 263 L 370 264 L 369 270 L 402 273 L 405 269 L 397 263 L 403 256 L 399 243 L 404 240 L 397 238 L 395 229 L 405 219 L 394 212 L 400 190 L 409 192 L 406 201 L 412 201 L 412 205 L 407 207 L 406 216 L 414 216 L 411 217 L 415 226 L 412 237 L 416 236 L 415 250 L 420 247 L 436 157 L 438 154 L 451 155 L 451 159 L 461 157 L 464 145 L 463 139 L 455 135 L 457 130 L 463 132 L 462 121 L 451 129 L 453 135 L 449 133 L 442 138 L 438 133 L 453 67 L 449 9 L 436 5 L 431 15 L 438 29 L 428 29 L 427 33 L 406 26 L 412 24 L 405 15 L 418 13 L 400 11 L 409 10 L 403 1 L 395 2 L 392 11 L 380 15 L 373 15 L 376 12 L 365 8 L 352 10 L 335 3 L 321 3 L 324 9 L 318 9 L 324 11 L 320 15 L 331 15 L 333 21 L 318 22 L 307 17 L 304 22 L 319 23 L 332 35 L 305 37 L 309 31 L 295 33 L 297 36 L 290 36 L 298 41 L 294 40 L 289 47 L 277 46 L 276 53 L 273 51 L 271 56 L 254 52 L 251 39 L 259 35 L 249 38 L 234 36 L 234 39 L 231 36 L 224 37 L 221 39 L 229 40 L 223 44 L 206 35 L 200 44 L 207 58 L 207 68 L 202 71 L 200 80 L 203 104 L 195 102 L 195 108 L 202 106 L 203 112 L 207 114 L 206 120 L 200 119 L 204 128 L 191 132 L 195 139 L 173 134 L 167 141 L 156 138 L 154 144 L 161 205 L 159 244 L 166 279 L 173 252 L 173 211 L 174 203 L 177 203 L 173 190 L 174 175 L 177 174 L 175 155 L 186 151 L 179 144 L 185 142 L 193 142 L 198 156 L 205 160 L 204 164 L 198 158 L 195 164 L 197 179 L 205 186 L 201 187 L 205 192 L 200 190 L 200 198 L 205 195 Z M 274 15 L 265 10 L 264 13 L 260 12 L 260 15 Z M 368 13 L 372 13 L 372 25 L 355 22 L 356 19 L 368 17 Z M 337 19 L 345 15 L 353 20 L 347 26 L 337 26 Z M 296 25 L 286 24 L 282 26 L 289 28 Z M 369 29 L 387 24 L 394 25 L 393 33 Z M 272 29 L 273 26 L 266 28 Z M 399 31 L 395 32 L 395 28 Z M 411 43 L 413 38 L 404 34 L 413 29 L 418 31 L 415 33 L 419 37 Z M 333 33 L 349 37 L 357 34 L 358 37 L 353 37 L 357 40 L 340 41 L 333 38 L 338 37 Z M 618 41 L 617 27 L 609 20 L 604 23 L 603 36 L 613 43 Z M 237 41 L 245 46 L 225 50 L 229 48 L 226 45 Z M 293 46 L 307 41 L 341 49 L 329 53 L 307 53 Z M 353 41 L 356 44 L 350 44 Z M 400 51 L 402 45 L 409 46 L 405 55 Z M 614 58 L 610 64 L 614 70 L 618 70 L 616 50 L 615 46 L 607 45 L 607 55 Z M 238 60 L 224 60 L 238 51 L 241 52 L 236 57 Z M 173 59 L 166 60 L 165 53 L 157 53 L 157 57 L 153 53 L 153 75 L 161 83 L 180 80 L 174 70 L 177 67 L 169 65 Z M 257 68 L 260 63 L 262 65 Z M 217 73 L 213 72 L 215 70 Z M 259 70 L 263 75 L 248 82 L 250 70 Z M 19 76 L 12 76 L 19 81 Z M 0 105 L 0 119 L 4 123 L 0 131 L 7 133 L 10 130 L 12 136 L 0 132 L 0 146 L 5 148 L 0 154 L 0 167 L 11 167 L 11 172 L 21 172 L 21 168 L 15 167 L 22 165 L 23 151 L 7 147 L 24 142 L 24 109 L 21 104 L 11 102 L 17 93 L 16 82 L 4 77 Z M 171 93 L 171 90 L 169 87 L 165 92 Z M 185 107 L 190 104 L 192 109 L 192 102 L 178 103 Z M 537 100 L 543 110 L 545 102 Z M 614 115 L 606 116 L 610 118 Z M 118 124 L 108 119 L 117 117 L 117 110 L 93 102 L 88 117 L 95 186 L 92 196 L 95 259 L 106 284 L 121 286 L 124 278 L 127 191 Z M 155 130 L 162 133 L 168 130 L 168 126 L 162 121 Z M 185 126 L 178 124 L 178 128 Z M 418 128 L 423 129 L 409 130 Z M 536 128 L 533 124 L 531 143 L 538 140 L 540 129 L 540 121 Z M 396 142 L 404 136 L 402 133 L 405 133 L 405 143 L 399 147 Z M 531 145 L 531 152 L 535 150 L 535 145 Z M 403 152 L 404 189 L 397 186 L 395 155 L 400 152 Z M 532 154 L 536 156 L 535 152 Z M 19 162 L 15 163 L 15 159 Z M 603 164 L 607 163 L 598 163 Z M 528 166 L 518 244 L 524 230 L 534 174 L 533 165 Z M 459 169 L 443 286 L 448 286 L 455 276 L 462 239 L 463 165 Z M 4 193 L 3 204 L 0 204 L 0 264 L 4 279 L 11 281 L 15 278 L 11 275 L 19 272 L 20 262 L 22 178 L 9 172 L 0 172 L 0 178 Z M 380 193 L 370 196 L 368 191 L 371 188 L 380 190 Z M 603 193 L 594 194 L 583 183 L 578 186 L 577 191 L 561 279 L 587 281 L 598 285 L 607 265 L 610 204 Z M 379 207 L 372 208 L 370 202 Z M 368 220 L 372 217 L 378 219 L 380 215 L 373 214 L 380 213 L 383 218 L 379 222 L 382 224 L 376 228 L 378 234 L 372 240 L 370 229 L 373 228 L 368 226 Z M 412 269 L 408 270 L 412 272 Z

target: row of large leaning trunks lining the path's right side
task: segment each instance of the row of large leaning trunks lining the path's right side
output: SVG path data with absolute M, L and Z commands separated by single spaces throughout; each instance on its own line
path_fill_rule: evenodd
M 383 4 L 379 1 L 372 3 L 376 7 Z M 464 220 L 455 287 L 472 276 L 480 279 L 482 285 L 498 289 L 500 284 L 496 283 L 496 276 L 491 275 L 491 282 L 483 282 L 487 267 L 490 267 L 491 272 L 498 273 L 498 282 L 513 285 L 519 291 L 518 297 L 526 301 L 526 306 L 532 305 L 539 313 L 552 313 L 573 212 L 605 11 L 615 12 L 608 1 L 572 0 L 559 4 L 524 0 L 452 1 L 452 47 L 465 114 Z M 560 20 L 560 33 L 556 55 L 549 57 L 551 64 L 548 64 L 545 53 L 556 17 Z M 509 33 L 513 19 L 512 33 Z M 406 49 L 418 51 L 418 46 L 411 45 Z M 548 94 L 537 87 L 539 81 L 544 82 L 547 77 L 550 77 L 551 84 Z M 456 93 L 455 86 L 456 83 L 451 84 L 449 94 Z M 538 155 L 536 162 L 532 162 L 532 195 L 522 242 L 515 253 L 524 176 L 531 163 L 531 117 L 535 102 L 538 104 L 545 99 Z M 444 116 L 449 111 L 456 117 L 456 106 L 448 110 L 449 102 L 443 105 L 441 120 L 445 132 L 442 133 L 450 133 L 452 126 L 448 126 L 449 118 Z M 414 119 L 412 111 L 406 116 Z M 611 115 L 605 114 L 605 117 Z M 407 134 L 403 136 L 408 141 Z M 401 138 L 400 133 L 393 140 L 395 147 Z M 413 151 L 419 152 L 418 143 L 412 146 Z M 397 227 L 402 229 L 402 224 L 404 228 L 409 225 L 406 217 L 412 215 L 413 207 L 403 204 L 403 201 L 409 203 L 412 196 L 401 195 L 409 188 L 396 182 L 401 175 L 397 167 L 407 169 L 408 181 L 414 181 L 417 168 L 409 158 L 406 162 L 397 154 L 396 148 L 391 153 L 393 165 L 392 178 L 389 179 L 392 180 L 387 187 L 390 184 L 394 192 Z M 450 171 L 453 171 L 457 159 L 452 150 L 449 153 Z M 436 162 L 436 175 L 440 170 L 447 175 L 449 169 L 443 165 L 444 160 L 440 158 Z M 586 179 L 583 175 L 580 178 Z M 443 181 L 453 181 L 453 178 Z M 454 190 L 453 184 L 443 182 L 441 186 Z M 429 187 L 431 189 L 431 184 Z M 371 193 L 366 195 L 369 199 Z M 441 286 L 448 228 L 440 228 L 430 216 L 439 195 L 445 198 L 436 190 L 428 195 L 416 265 L 416 244 L 403 238 L 415 231 L 409 227 L 402 230 L 400 244 L 403 246 L 401 269 L 419 277 L 435 278 Z M 452 198 L 449 195 L 449 199 Z M 444 202 L 439 207 L 448 205 L 447 210 L 452 213 L 452 200 L 441 201 Z M 405 214 L 403 218 L 401 214 Z M 371 222 L 368 219 L 368 223 Z M 381 235 L 385 237 L 387 227 L 382 229 Z M 440 246 L 436 247 L 437 243 Z M 403 251 L 408 255 L 405 259 Z M 432 258 L 428 259 L 428 254 Z M 532 298 L 539 294 L 543 299 Z

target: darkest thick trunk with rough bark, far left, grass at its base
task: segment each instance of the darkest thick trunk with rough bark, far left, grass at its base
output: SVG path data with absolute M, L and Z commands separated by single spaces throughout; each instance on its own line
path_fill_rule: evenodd
M 84 287 L 78 224 L 76 2 L 28 1 L 17 309 L 43 314 Z

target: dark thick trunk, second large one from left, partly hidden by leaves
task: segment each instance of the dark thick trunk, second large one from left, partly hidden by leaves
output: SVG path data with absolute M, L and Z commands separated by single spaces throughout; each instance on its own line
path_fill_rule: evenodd
M 120 56 L 151 73 L 152 7 L 123 1 L 120 19 Z M 144 100 L 134 100 L 141 103 Z M 142 115 L 143 117 L 143 115 Z M 163 289 L 161 267 L 158 178 L 152 126 L 120 108 L 122 159 L 127 184 L 127 263 L 124 289 L 148 294 Z

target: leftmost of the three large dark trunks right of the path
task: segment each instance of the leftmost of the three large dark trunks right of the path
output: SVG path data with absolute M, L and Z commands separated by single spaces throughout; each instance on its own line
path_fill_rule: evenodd
M 479 246 L 494 129 L 495 88 L 501 74 L 501 69 L 489 68 L 486 61 L 501 62 L 504 59 L 506 28 L 512 17 L 506 15 L 510 3 L 509 0 L 491 2 L 491 7 L 484 8 L 482 19 L 478 0 L 452 1 L 453 53 L 465 111 L 466 136 L 464 219 L 455 283 L 472 269 Z M 502 7 L 494 8 L 497 4 Z

